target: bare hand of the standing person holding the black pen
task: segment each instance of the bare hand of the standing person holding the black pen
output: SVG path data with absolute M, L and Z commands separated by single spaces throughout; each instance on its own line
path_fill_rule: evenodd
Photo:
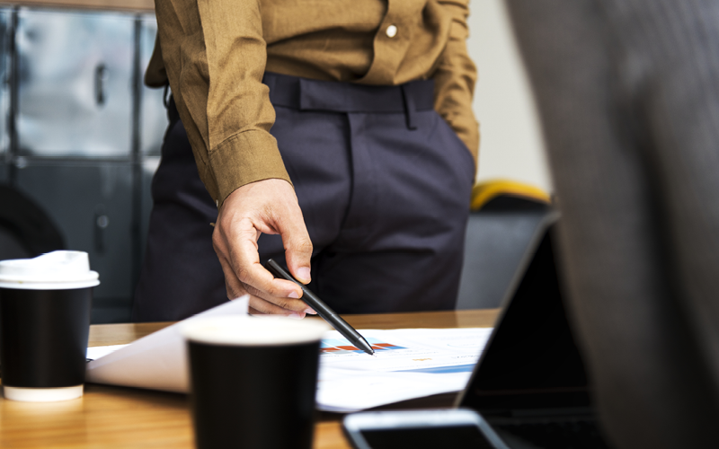
M 250 313 L 277 313 L 304 317 L 315 313 L 298 299 L 302 289 L 275 279 L 262 267 L 257 239 L 279 233 L 289 272 L 298 281 L 310 281 L 312 242 L 305 227 L 295 190 L 286 180 L 260 180 L 236 189 L 217 216 L 212 244 L 225 272 L 227 297 L 250 294 Z

